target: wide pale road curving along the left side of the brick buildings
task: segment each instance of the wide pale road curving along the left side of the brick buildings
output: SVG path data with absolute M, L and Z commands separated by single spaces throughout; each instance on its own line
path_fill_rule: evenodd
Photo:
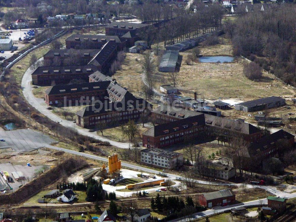
M 43 58 L 41 58 L 40 60 L 42 59 Z M 119 148 L 130 148 L 133 146 L 132 143 L 121 143 L 121 142 L 113 141 L 103 136 L 97 135 L 96 132 L 89 132 L 88 129 L 84 129 L 77 126 L 75 123 L 73 123 L 73 121 L 62 119 L 61 117 L 53 114 L 51 110 L 47 109 L 48 106 L 46 105 L 43 99 L 34 97 L 32 93 L 33 87 L 31 85 L 32 72 L 33 72 L 32 67 L 28 68 L 28 70 L 25 72 L 22 78 L 22 89 L 23 89 L 22 92 L 24 94 L 25 99 L 30 103 L 30 105 L 36 108 L 40 113 L 44 114 L 54 122 L 59 122 L 64 127 L 67 127 L 70 129 L 74 128 L 81 135 L 86 135 L 86 136 L 101 140 L 103 142 L 109 142 L 112 146 L 117 146 Z

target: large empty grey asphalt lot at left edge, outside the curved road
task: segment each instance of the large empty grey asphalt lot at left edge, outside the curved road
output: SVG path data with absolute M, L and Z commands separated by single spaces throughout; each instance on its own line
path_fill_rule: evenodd
M 0 153 L 7 148 L 16 152 L 30 152 L 56 142 L 48 135 L 31 129 L 1 130 L 0 139 L 5 140 L 0 141 Z

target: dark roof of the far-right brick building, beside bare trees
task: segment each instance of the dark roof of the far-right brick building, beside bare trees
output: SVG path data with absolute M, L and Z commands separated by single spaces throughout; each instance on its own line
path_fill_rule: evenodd
M 250 154 L 255 155 L 255 154 L 258 154 L 258 151 L 264 151 L 264 150 L 268 149 L 271 145 L 278 142 L 278 140 L 281 140 L 281 139 L 288 139 L 289 140 L 294 137 L 295 136 L 292 135 L 291 133 L 281 129 L 277 132 L 274 132 L 270 135 L 260 138 L 255 143 L 251 143 L 250 146 L 248 147 L 248 151 Z

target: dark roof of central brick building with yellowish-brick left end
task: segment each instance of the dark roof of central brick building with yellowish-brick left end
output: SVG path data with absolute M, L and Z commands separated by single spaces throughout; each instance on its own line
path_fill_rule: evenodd
M 106 100 L 106 102 L 102 101 L 102 104 L 86 106 L 83 109 L 77 111 L 76 115 L 81 117 L 93 116 L 114 111 L 124 111 L 128 110 L 128 108 L 131 108 L 133 110 L 133 108 L 136 108 L 137 106 L 139 106 L 139 109 L 141 109 L 143 106 L 150 106 L 150 103 L 143 100 L 142 98 L 136 98 L 135 100 L 133 100 L 132 103 L 128 103 L 128 100 L 119 102 L 109 102 L 109 100 Z

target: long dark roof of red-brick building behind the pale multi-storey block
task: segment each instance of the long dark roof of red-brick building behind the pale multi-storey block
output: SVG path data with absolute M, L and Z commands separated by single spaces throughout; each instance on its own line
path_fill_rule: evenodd
M 178 131 L 178 129 L 192 128 L 194 125 L 205 125 L 205 114 L 197 116 L 191 116 L 185 119 L 180 119 L 174 122 L 160 124 L 150 128 L 149 130 L 142 133 L 143 135 L 157 137 L 167 135 L 172 132 Z

